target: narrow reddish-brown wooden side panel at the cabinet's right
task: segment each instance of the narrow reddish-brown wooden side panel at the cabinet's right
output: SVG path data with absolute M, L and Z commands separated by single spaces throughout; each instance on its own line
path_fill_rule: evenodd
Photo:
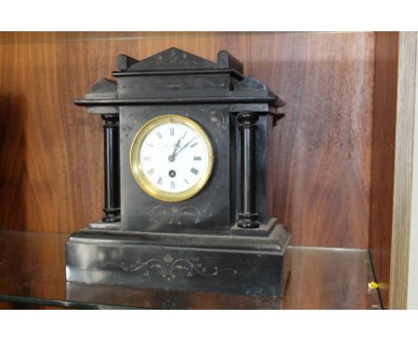
M 398 44 L 397 33 L 376 33 L 369 249 L 385 308 L 389 307 Z

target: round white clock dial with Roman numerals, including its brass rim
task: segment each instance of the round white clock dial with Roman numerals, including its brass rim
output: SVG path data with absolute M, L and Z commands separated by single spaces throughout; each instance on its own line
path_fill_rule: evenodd
M 162 115 L 139 129 L 130 147 L 130 170 L 147 194 L 167 202 L 196 195 L 213 168 L 205 130 L 180 115 Z

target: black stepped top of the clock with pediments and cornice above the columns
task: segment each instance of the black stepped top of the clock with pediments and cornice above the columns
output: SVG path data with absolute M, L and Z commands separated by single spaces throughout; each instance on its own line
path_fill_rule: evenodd
M 90 113 L 103 113 L 97 107 L 151 104 L 254 104 L 256 112 L 276 113 L 285 103 L 255 77 L 244 77 L 243 65 L 226 51 L 210 62 L 176 47 L 138 61 L 118 56 L 117 79 L 101 79 L 85 99 L 74 103 L 87 106 Z M 110 108 L 108 108 L 110 109 Z M 250 109 L 250 111 L 252 111 Z

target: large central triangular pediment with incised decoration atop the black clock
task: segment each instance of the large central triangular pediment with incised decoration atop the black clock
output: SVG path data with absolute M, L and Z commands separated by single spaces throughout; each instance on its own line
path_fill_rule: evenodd
M 130 65 L 128 71 L 218 69 L 219 66 L 195 54 L 171 47 Z

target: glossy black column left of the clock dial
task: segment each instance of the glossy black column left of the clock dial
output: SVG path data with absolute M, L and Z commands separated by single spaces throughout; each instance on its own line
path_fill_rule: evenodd
M 119 116 L 102 115 L 104 120 L 104 218 L 105 222 L 121 220 L 119 173 Z

